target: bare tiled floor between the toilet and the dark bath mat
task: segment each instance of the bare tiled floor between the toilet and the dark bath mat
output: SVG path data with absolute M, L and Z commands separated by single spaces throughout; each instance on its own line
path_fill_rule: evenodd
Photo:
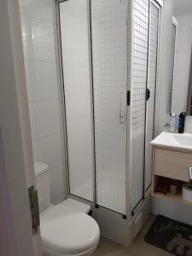
M 148 221 L 143 226 L 143 230 L 137 235 L 131 247 L 124 247 L 115 241 L 101 237 L 94 256 L 172 256 L 171 253 L 166 253 L 166 251 L 151 246 L 144 241 L 143 237 L 153 223 L 153 220 L 153 216 L 148 218 Z

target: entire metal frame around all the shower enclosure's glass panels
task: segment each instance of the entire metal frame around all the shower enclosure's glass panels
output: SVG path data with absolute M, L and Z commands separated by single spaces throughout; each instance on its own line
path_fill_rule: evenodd
M 59 15 L 59 3 L 66 2 L 70 0 L 55 0 L 55 16 L 56 16 L 56 32 L 57 32 L 57 58 L 59 62 L 59 79 L 61 83 L 61 105 L 62 105 L 62 119 L 63 119 L 63 148 L 64 148 L 64 166 L 65 166 L 65 187 L 66 187 L 66 198 L 72 198 L 74 200 L 82 201 L 86 204 L 89 204 L 91 207 L 96 208 L 96 211 L 107 212 L 114 218 L 124 218 L 124 221 L 130 221 L 133 217 L 131 211 L 131 89 L 132 89 L 132 69 L 133 69 L 133 0 L 127 0 L 128 2 L 128 16 L 127 16 L 127 96 L 128 92 L 130 92 L 130 104 L 126 106 L 126 160 L 125 160 L 125 215 L 119 212 L 114 212 L 105 207 L 96 205 L 96 154 L 95 154 L 95 120 L 94 120 L 94 98 L 93 98 L 93 66 L 92 66 L 92 42 L 91 42 L 91 17 L 90 17 L 90 1 L 86 0 L 88 4 L 88 19 L 90 20 L 88 38 L 90 40 L 89 44 L 89 53 L 90 53 L 90 108 L 91 108 L 91 133 L 93 135 L 92 139 L 92 149 L 93 149 L 93 201 L 87 201 L 84 198 L 81 198 L 77 195 L 72 195 L 70 193 L 70 183 L 69 183 L 69 166 L 68 166 L 68 152 L 67 152 L 67 119 L 66 119 L 66 104 L 65 104 L 65 91 L 64 91 L 64 79 L 63 79 L 63 65 L 62 65 L 62 51 L 61 51 L 61 30 L 60 30 L 60 15 Z M 160 90 L 160 52 L 161 52 L 161 38 L 162 38 L 162 14 L 163 14 L 163 2 L 161 0 L 149 0 L 151 2 L 156 3 L 160 9 L 160 20 L 159 20 L 159 36 L 158 36 L 158 53 L 157 53 L 157 72 L 156 72 L 156 93 L 155 93 L 155 114 L 154 114 L 154 124 L 156 124 L 156 112 L 159 107 L 158 102 L 158 92 Z M 147 88 L 147 83 L 146 83 Z M 154 134 L 155 134 L 154 127 Z M 144 171 L 143 171 L 144 176 Z M 151 189 L 148 191 L 144 191 L 143 184 L 143 200 L 140 201 L 137 207 L 134 210 L 134 215 L 141 209 L 143 205 L 143 201 L 150 194 Z

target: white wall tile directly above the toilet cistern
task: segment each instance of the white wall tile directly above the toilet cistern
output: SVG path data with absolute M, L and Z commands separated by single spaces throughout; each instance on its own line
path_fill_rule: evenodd
M 49 168 L 61 165 L 63 162 L 61 133 L 38 139 L 39 160 Z

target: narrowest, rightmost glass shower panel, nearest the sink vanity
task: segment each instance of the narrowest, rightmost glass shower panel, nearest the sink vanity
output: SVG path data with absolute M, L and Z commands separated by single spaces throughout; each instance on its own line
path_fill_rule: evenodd
M 154 103 L 157 70 L 157 46 L 158 46 L 159 9 L 151 3 L 150 29 L 149 29 L 149 52 L 148 52 L 148 89 L 150 98 L 147 102 L 146 114 L 146 137 L 145 137 L 145 190 L 151 184 L 152 179 L 152 145 L 154 137 Z

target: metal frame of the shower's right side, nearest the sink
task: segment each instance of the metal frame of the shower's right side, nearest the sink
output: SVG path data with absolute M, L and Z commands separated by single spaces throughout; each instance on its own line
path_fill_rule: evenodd
M 134 0 L 133 0 L 134 1 Z M 127 84 L 127 90 L 132 90 L 133 88 L 133 81 L 132 81 L 132 71 L 133 71 L 133 44 L 134 44 L 134 40 L 133 40 L 133 1 L 129 1 L 131 8 L 129 9 L 129 11 L 131 11 L 129 13 L 128 16 L 128 20 L 130 20 L 130 24 L 131 26 L 129 26 L 129 30 L 128 33 L 131 36 L 131 44 L 130 47 L 128 45 L 128 55 L 130 57 L 130 61 L 128 61 L 128 74 L 129 74 L 129 78 L 128 78 L 128 84 Z M 158 47 L 157 47 L 157 67 L 156 67 L 156 89 L 155 89 L 155 95 L 154 95 L 154 136 L 156 134 L 156 124 L 157 124 L 157 114 L 158 113 L 158 109 L 159 109 L 159 91 L 160 91 L 160 64 L 161 64 L 161 45 L 162 45 L 162 19 L 163 19 L 163 1 L 162 0 L 148 0 L 148 5 L 149 5 L 149 15 L 148 15 L 148 53 L 149 53 L 149 29 L 150 29 L 150 10 L 151 10 L 151 4 L 154 4 L 158 9 L 159 9 L 159 26 L 158 26 Z M 129 58 L 128 58 L 129 59 Z M 149 59 L 148 59 L 149 60 Z M 148 63 L 147 63 L 148 65 Z M 146 91 L 148 88 L 148 67 L 147 67 L 147 80 L 146 80 Z M 130 104 L 130 111 L 127 111 L 127 120 L 130 121 L 130 129 L 128 131 L 127 129 L 127 148 L 129 148 L 130 146 L 130 154 L 129 157 L 127 157 L 127 159 L 129 159 L 127 161 L 127 166 L 129 166 L 129 168 L 126 169 L 126 173 L 127 173 L 127 178 L 129 178 L 129 184 L 128 186 L 126 185 L 126 198 L 129 199 L 128 202 L 126 202 L 126 206 L 127 206 L 127 211 L 129 212 L 130 218 L 135 216 L 137 214 L 137 212 L 140 211 L 141 207 L 143 206 L 143 202 L 145 201 L 146 198 L 148 198 L 148 195 L 150 195 L 151 192 L 151 185 L 148 187 L 148 190 L 145 191 L 145 161 L 143 162 L 143 198 L 141 199 L 141 201 L 139 201 L 137 203 L 137 206 L 131 211 L 131 113 L 132 113 L 132 104 Z M 145 122 L 147 120 L 147 101 L 145 102 Z M 129 115 L 129 116 L 128 116 Z M 128 126 L 127 126 L 128 127 Z M 146 140 L 146 124 L 145 124 L 145 130 L 144 130 L 144 140 Z M 129 143 L 129 144 L 128 144 Z M 143 154 L 144 154 L 144 160 L 145 160 L 145 142 L 144 142 L 144 148 L 143 148 Z M 153 163 L 152 163 L 152 169 L 153 169 Z M 128 170 L 130 170 L 130 172 L 128 172 Z M 126 183 L 127 184 L 127 183 Z

